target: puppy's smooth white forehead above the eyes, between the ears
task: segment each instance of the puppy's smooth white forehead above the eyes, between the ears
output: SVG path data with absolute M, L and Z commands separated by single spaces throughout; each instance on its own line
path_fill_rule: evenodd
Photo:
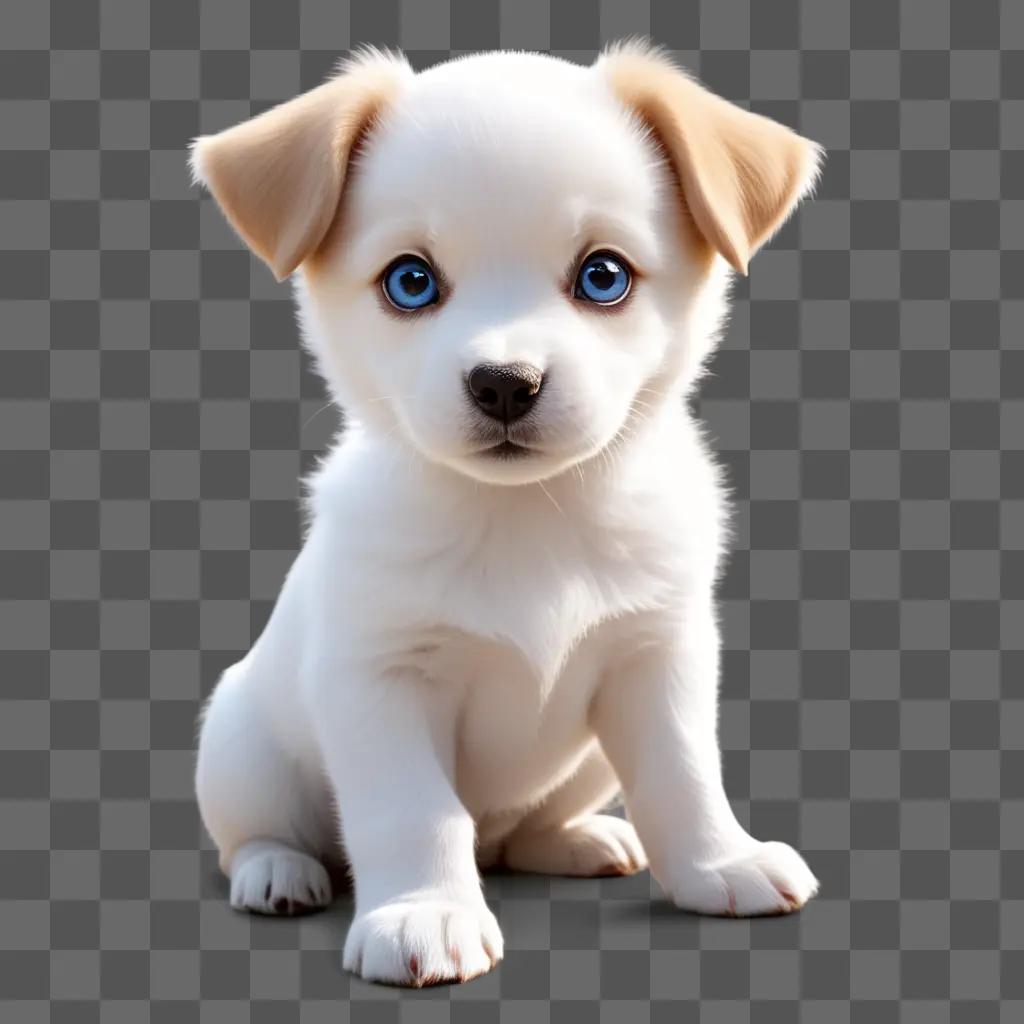
M 591 69 L 483 54 L 418 75 L 382 118 L 353 175 L 352 227 L 408 218 L 464 249 L 554 244 L 587 209 L 649 220 L 659 173 Z

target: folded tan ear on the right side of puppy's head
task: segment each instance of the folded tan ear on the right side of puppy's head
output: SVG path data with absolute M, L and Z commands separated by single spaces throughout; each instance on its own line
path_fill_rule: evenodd
M 646 45 L 615 47 L 595 68 L 667 151 L 697 230 L 745 273 L 814 184 L 821 148 L 709 92 Z

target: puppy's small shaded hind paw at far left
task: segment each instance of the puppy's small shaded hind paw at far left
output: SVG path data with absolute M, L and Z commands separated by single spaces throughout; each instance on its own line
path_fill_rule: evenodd
M 231 906 L 254 913 L 295 914 L 327 906 L 324 865 L 282 843 L 247 843 L 231 858 Z

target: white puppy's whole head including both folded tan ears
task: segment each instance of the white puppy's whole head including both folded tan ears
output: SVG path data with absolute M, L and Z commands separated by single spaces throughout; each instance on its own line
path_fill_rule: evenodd
M 648 48 L 591 68 L 371 51 L 197 140 L 239 234 L 297 280 L 307 343 L 367 429 L 495 483 L 626 437 L 696 376 L 728 266 L 817 147 Z

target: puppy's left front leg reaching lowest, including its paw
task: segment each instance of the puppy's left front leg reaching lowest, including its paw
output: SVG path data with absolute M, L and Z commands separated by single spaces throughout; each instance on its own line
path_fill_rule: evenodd
M 318 688 L 318 738 L 355 885 L 344 966 L 399 985 L 483 974 L 502 936 L 453 786 L 451 697 L 413 675 L 339 686 L 330 673 Z

